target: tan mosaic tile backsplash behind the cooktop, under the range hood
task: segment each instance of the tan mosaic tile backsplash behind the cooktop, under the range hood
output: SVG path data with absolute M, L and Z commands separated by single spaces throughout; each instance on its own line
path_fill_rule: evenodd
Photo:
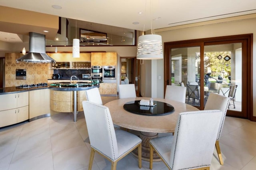
M 16 63 L 22 53 L 6 53 L 5 55 L 5 87 L 14 87 L 23 84 L 47 83 L 48 67 L 42 63 Z M 16 69 L 26 69 L 26 80 L 16 80 Z

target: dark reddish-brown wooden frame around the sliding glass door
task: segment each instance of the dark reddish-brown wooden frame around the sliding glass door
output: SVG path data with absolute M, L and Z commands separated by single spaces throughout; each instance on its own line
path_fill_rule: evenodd
M 246 111 L 242 110 L 246 115 L 241 116 L 238 111 L 230 111 L 228 110 L 227 115 L 246 118 L 251 121 L 256 121 L 256 117 L 253 116 L 253 103 L 252 103 L 252 79 L 253 76 L 253 63 L 252 63 L 252 37 L 253 34 L 242 34 L 235 36 L 222 36 L 222 37 L 214 37 L 214 38 L 203 38 L 203 39 L 195 39 L 195 40 L 184 40 L 177 42 L 165 42 L 164 43 L 164 89 L 166 85 L 170 84 L 170 49 L 171 48 L 180 48 L 180 47 L 198 47 L 200 46 L 200 58 L 201 61 L 204 61 L 204 45 L 219 45 L 224 43 L 242 43 L 242 68 L 243 71 L 246 71 L 247 76 L 242 77 L 242 109 L 246 109 Z M 204 68 L 204 62 L 200 62 L 200 67 Z M 204 75 L 204 69 L 200 69 L 200 75 Z M 200 81 L 200 86 L 203 86 L 204 81 Z M 200 88 L 200 92 L 203 95 L 204 89 Z M 200 101 L 200 107 L 198 109 L 204 109 L 204 101 Z

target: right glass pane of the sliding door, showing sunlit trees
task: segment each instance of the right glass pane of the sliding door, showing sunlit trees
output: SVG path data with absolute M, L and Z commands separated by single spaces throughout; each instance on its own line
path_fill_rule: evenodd
M 228 109 L 242 111 L 242 43 L 204 46 L 204 95 L 230 97 Z

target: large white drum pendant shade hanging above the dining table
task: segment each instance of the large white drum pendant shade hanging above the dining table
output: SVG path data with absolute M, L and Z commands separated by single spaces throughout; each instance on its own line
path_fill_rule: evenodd
M 163 59 L 162 36 L 156 34 L 139 36 L 137 59 Z

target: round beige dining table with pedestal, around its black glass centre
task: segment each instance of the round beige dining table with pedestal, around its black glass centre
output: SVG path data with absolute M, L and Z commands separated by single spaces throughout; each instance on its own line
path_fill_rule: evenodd
M 155 98 L 154 101 L 172 105 L 174 111 L 167 115 L 151 116 L 134 114 L 124 109 L 124 104 L 142 99 L 149 100 L 150 98 L 136 97 L 117 99 L 106 103 L 105 106 L 109 108 L 114 124 L 123 128 L 139 131 L 139 136 L 142 138 L 142 160 L 149 161 L 149 140 L 158 137 L 158 133 L 174 132 L 179 113 L 198 111 L 198 109 L 186 103 L 160 98 Z M 154 154 L 153 160 L 160 161 L 161 159 Z

